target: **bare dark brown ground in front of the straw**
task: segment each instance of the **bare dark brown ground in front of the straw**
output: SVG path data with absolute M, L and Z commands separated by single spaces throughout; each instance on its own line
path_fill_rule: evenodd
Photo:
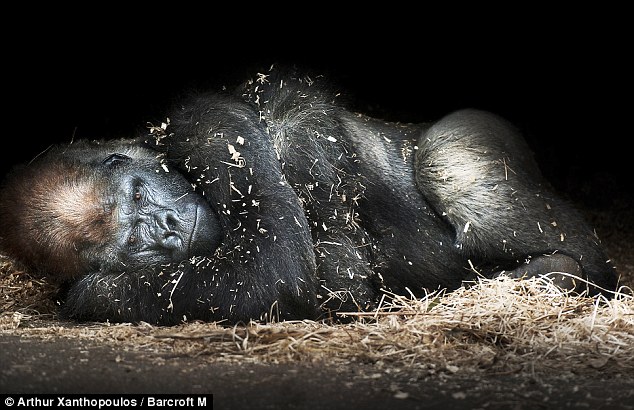
M 261 364 L 122 351 L 98 340 L 0 339 L 3 392 L 213 393 L 217 409 L 628 409 L 624 373 L 437 374 L 373 364 Z

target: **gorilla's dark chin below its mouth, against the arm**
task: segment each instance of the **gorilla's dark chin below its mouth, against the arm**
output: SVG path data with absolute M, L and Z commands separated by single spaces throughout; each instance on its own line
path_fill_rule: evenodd
M 196 220 L 189 238 L 188 257 L 211 256 L 220 244 L 220 224 L 214 211 L 206 204 L 196 205 Z

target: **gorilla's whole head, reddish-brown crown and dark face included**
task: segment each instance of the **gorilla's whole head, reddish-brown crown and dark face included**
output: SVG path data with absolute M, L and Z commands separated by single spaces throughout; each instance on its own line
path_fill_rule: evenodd
M 218 216 L 156 152 L 129 141 L 77 142 L 15 175 L 0 203 L 7 252 L 71 278 L 144 270 L 220 243 Z

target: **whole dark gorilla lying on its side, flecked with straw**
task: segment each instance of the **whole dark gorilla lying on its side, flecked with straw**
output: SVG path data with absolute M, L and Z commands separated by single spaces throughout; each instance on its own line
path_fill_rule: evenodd
M 505 120 L 388 123 L 318 81 L 273 69 L 190 97 L 146 141 L 54 147 L 5 182 L 2 250 L 66 282 L 78 320 L 314 319 L 474 272 L 616 288 Z

